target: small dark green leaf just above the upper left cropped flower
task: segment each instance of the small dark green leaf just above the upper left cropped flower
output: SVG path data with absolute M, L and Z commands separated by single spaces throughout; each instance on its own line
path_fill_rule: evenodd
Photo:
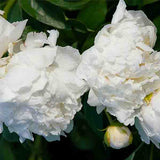
M 9 11 L 7 19 L 9 22 L 16 22 L 23 20 L 22 9 L 18 2 L 16 2 Z

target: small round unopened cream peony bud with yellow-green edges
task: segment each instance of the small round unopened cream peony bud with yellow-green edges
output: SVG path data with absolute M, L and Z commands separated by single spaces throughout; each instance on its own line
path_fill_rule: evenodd
M 131 131 L 125 126 L 109 126 L 104 135 L 104 142 L 108 147 L 121 149 L 132 143 Z

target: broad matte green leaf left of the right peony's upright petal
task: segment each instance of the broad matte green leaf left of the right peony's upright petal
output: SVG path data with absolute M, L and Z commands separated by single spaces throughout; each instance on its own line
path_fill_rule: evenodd
M 77 19 L 84 23 L 87 28 L 96 29 L 98 26 L 104 23 L 106 14 L 106 1 L 93 1 L 79 12 Z

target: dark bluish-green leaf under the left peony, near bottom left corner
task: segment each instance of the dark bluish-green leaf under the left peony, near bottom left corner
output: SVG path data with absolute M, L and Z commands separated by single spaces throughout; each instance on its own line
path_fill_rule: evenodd
M 2 136 L 8 142 L 19 142 L 18 135 L 16 133 L 10 133 L 6 126 L 3 126 Z

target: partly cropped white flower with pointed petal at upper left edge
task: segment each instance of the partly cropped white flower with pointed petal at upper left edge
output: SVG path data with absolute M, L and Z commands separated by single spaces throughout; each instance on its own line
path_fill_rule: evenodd
M 3 11 L 0 11 L 3 14 Z M 0 16 L 0 58 L 8 50 L 9 44 L 16 42 L 22 35 L 27 20 L 9 23 Z

